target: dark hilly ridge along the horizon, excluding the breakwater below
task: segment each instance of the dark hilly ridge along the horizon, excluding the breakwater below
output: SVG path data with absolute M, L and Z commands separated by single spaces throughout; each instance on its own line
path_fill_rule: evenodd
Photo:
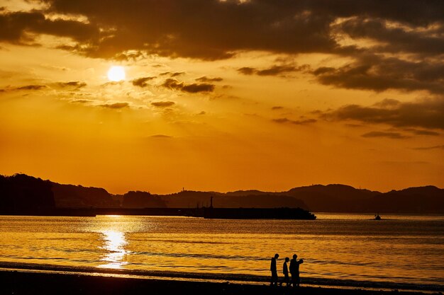
M 310 185 L 286 192 L 182 191 L 169 195 L 130 191 L 112 195 L 100 187 L 62 185 L 24 174 L 0 175 L 0 213 L 37 208 L 216 208 L 300 207 L 311 212 L 444 213 L 444 190 L 434 186 L 377 192 L 349 185 Z

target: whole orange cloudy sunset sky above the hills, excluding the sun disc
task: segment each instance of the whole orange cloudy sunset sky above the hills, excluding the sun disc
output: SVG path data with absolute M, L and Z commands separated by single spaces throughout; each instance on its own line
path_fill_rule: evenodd
M 444 187 L 443 134 L 442 0 L 0 0 L 0 174 Z

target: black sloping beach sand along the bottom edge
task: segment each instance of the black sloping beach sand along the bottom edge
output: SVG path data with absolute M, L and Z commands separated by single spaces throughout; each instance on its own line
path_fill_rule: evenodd
M 328 287 L 270 287 L 266 284 L 231 284 L 187 280 L 104 277 L 91 274 L 23 272 L 0 270 L 0 294 L 18 295 L 134 295 L 134 294 L 299 294 L 299 295 L 389 295 L 423 294 L 421 292 L 334 289 Z

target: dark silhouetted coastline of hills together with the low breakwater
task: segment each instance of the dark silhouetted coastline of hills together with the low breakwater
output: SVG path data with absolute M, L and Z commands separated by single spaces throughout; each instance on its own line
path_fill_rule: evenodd
M 211 207 L 210 199 L 217 203 L 217 209 L 202 209 Z M 100 187 L 62 185 L 25 174 L 0 175 L 0 214 L 94 216 L 114 212 L 206 218 L 266 216 L 263 218 L 294 219 L 291 215 L 302 209 L 312 212 L 442 214 L 444 190 L 426 186 L 382 193 L 357 190 L 347 185 L 311 185 L 295 187 L 287 192 L 182 190 L 170 195 L 140 191 L 112 195 Z M 289 213 L 291 211 L 293 213 Z

